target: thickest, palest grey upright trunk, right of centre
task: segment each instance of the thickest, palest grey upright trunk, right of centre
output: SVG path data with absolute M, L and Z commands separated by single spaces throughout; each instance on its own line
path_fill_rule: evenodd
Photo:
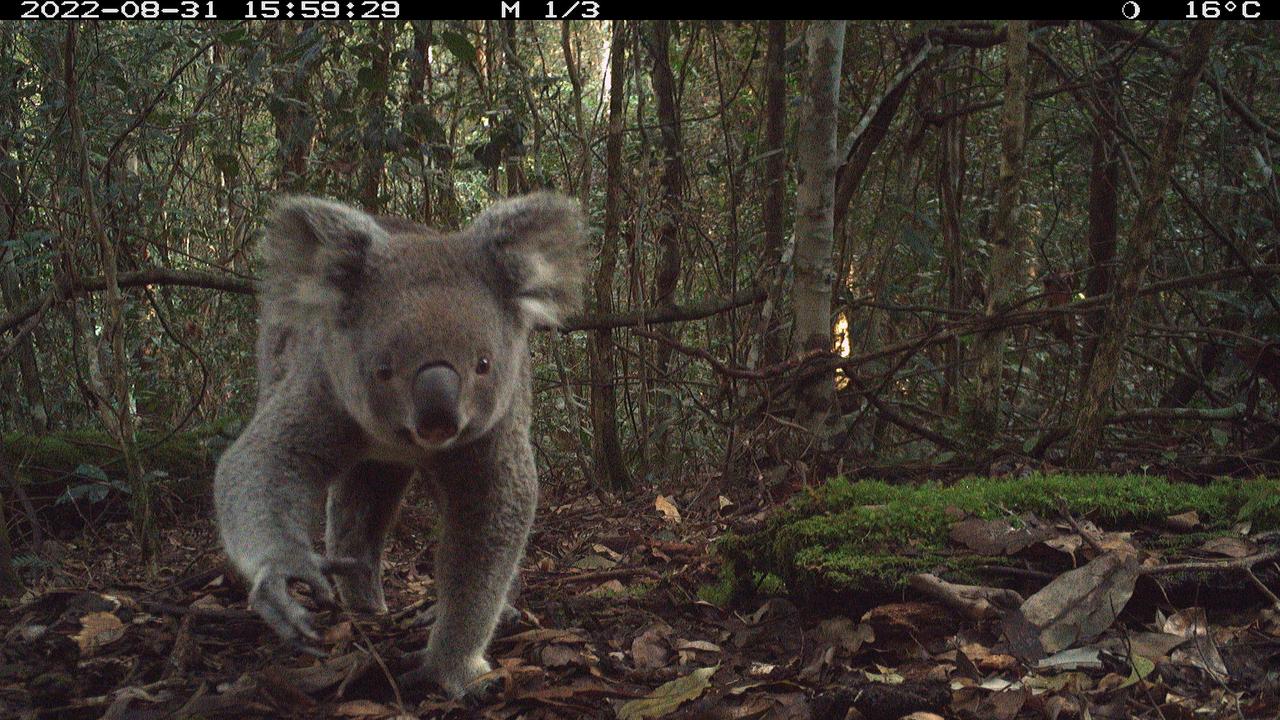
M 809 65 L 804 105 L 796 133 L 795 313 L 792 351 L 831 350 L 832 233 L 835 231 L 836 109 L 845 47 L 845 20 L 812 22 L 805 32 Z M 835 405 L 833 373 L 817 373 L 796 383 L 796 423 L 814 437 Z

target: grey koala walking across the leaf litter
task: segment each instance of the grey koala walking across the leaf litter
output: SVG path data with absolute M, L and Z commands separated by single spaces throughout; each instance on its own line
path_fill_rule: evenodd
M 434 625 L 408 680 L 457 697 L 490 670 L 538 502 L 529 337 L 579 307 L 584 246 L 577 205 L 548 192 L 457 233 L 279 204 L 261 246 L 257 405 L 214 500 L 250 603 L 282 638 L 316 638 L 291 580 L 323 603 L 335 585 L 355 610 L 387 610 L 383 546 L 419 473 L 443 528 Z

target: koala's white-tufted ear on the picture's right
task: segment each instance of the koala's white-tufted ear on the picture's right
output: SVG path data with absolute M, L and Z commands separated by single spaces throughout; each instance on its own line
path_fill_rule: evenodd
M 503 200 L 470 232 L 490 243 L 530 325 L 559 327 L 581 306 L 586 231 L 576 201 L 553 192 Z

